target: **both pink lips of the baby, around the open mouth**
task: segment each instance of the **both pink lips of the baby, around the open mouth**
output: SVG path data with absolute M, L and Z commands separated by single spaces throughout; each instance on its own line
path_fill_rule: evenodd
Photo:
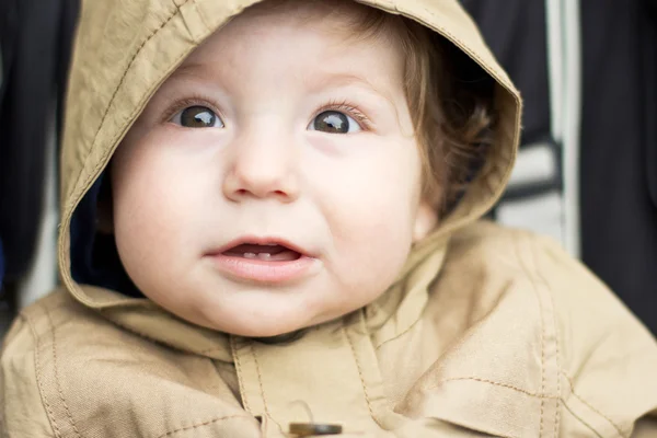
M 226 251 L 245 243 L 257 245 L 277 244 L 289 247 L 301 256 L 293 261 L 262 261 L 224 254 Z M 237 281 L 280 285 L 298 281 L 312 274 L 318 258 L 304 249 L 279 238 L 242 237 L 205 255 L 227 277 Z

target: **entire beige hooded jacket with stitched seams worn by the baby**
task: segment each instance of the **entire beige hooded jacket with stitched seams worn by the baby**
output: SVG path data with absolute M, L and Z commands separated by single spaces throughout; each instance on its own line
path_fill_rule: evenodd
M 557 245 L 479 221 L 508 180 L 520 99 L 456 0 L 362 1 L 460 48 L 488 78 L 498 119 L 483 169 L 385 293 L 267 344 L 185 322 L 130 287 L 94 231 L 103 171 L 159 84 L 253 3 L 83 4 L 61 161 L 64 286 L 4 341 L 2 435 L 284 437 L 315 422 L 358 437 L 657 436 L 655 339 Z

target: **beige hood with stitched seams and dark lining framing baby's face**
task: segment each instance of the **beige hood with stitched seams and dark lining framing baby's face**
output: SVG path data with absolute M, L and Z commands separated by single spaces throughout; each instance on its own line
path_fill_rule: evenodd
M 198 351 L 223 342 L 220 334 L 178 321 L 146 299 L 119 293 L 125 292 L 120 285 L 108 286 L 97 280 L 103 278 L 102 273 L 92 273 L 95 269 L 90 265 L 95 198 L 99 178 L 112 154 L 158 87 L 206 37 L 254 3 L 257 1 L 85 1 L 71 67 L 58 242 L 64 284 L 82 304 L 102 311 L 120 325 L 180 347 L 183 346 L 171 333 L 193 336 L 195 342 L 185 343 L 184 348 Z M 463 50 L 495 81 L 496 138 L 484 168 L 458 207 L 413 250 L 401 275 L 405 277 L 413 270 L 422 270 L 420 262 L 426 261 L 430 252 L 446 246 L 447 238 L 454 230 L 479 219 L 499 198 L 516 155 L 520 97 L 457 0 L 366 0 L 361 3 L 402 14 L 434 30 Z M 427 263 L 436 268 L 441 262 Z M 173 326 L 175 330 L 164 330 Z M 194 347 L 189 347 L 191 344 Z M 228 359 L 224 351 L 216 356 Z

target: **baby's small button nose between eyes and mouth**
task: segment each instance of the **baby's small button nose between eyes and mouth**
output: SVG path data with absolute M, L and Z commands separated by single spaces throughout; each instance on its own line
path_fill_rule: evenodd
M 299 197 L 297 153 L 283 136 L 235 139 L 223 180 L 223 194 L 233 201 L 274 198 L 291 203 Z

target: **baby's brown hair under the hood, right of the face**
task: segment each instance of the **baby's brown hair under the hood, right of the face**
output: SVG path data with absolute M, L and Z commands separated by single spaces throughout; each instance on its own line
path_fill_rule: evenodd
M 360 35 L 394 35 L 390 39 L 406 56 L 404 88 L 420 149 L 423 195 L 445 214 L 480 170 L 492 142 L 493 81 L 427 27 L 374 8 L 359 10 L 354 24 Z

